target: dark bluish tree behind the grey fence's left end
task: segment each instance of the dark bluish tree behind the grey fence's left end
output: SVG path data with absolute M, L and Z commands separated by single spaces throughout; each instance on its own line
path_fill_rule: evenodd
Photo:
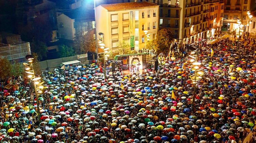
M 48 50 L 45 43 L 38 40 L 32 41 L 30 43 L 30 48 L 33 53 L 37 53 L 39 61 L 47 57 L 46 53 L 48 52 Z

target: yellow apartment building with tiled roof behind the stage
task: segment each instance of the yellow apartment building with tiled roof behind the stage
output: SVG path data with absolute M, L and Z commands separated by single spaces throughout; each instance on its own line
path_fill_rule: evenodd
M 145 47 L 147 36 L 149 40 L 156 38 L 158 12 L 159 5 L 146 1 L 102 4 L 96 7 L 96 30 L 104 34 L 105 47 L 114 55 L 119 54 L 118 42 L 123 40 L 130 50 L 138 51 Z

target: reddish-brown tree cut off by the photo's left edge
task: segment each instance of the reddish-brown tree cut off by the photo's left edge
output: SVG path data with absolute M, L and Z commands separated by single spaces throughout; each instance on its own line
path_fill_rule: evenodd
M 1 68 L 0 68 L 0 78 L 5 80 L 6 78 L 11 76 L 12 65 L 9 62 L 9 60 L 7 60 L 5 58 L 4 59 L 0 59 L 0 65 L 1 65 Z

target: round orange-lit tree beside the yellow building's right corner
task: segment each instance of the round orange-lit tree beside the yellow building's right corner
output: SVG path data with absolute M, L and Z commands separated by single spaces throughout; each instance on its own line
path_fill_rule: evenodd
M 172 31 L 170 29 L 163 28 L 157 32 L 156 46 L 159 51 L 169 50 L 172 43 Z

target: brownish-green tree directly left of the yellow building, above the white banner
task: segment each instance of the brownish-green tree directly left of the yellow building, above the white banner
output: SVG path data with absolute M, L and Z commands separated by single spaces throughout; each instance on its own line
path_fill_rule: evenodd
M 76 32 L 73 47 L 77 54 L 96 51 L 94 33 L 95 30 L 90 30 L 86 34 L 83 31 Z

